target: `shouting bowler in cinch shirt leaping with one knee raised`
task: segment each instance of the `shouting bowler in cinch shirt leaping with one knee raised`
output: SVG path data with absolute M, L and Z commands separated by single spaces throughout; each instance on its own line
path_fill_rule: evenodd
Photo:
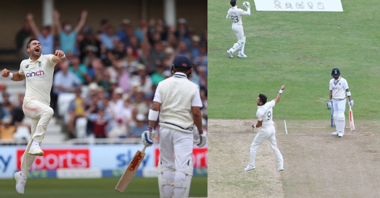
M 26 90 L 22 111 L 25 116 L 32 119 L 31 138 L 24 155 L 21 158 L 21 171 L 14 173 L 16 190 L 22 195 L 27 180 L 27 174 L 36 156 L 42 156 L 41 143 L 46 133 L 46 127 L 54 112 L 50 107 L 50 90 L 53 83 L 55 64 L 65 61 L 63 51 L 57 50 L 55 54 L 42 55 L 41 43 L 31 38 L 27 44 L 29 59 L 23 60 L 20 70 L 10 73 L 3 69 L 1 75 L 13 81 L 22 81 L 26 77 Z

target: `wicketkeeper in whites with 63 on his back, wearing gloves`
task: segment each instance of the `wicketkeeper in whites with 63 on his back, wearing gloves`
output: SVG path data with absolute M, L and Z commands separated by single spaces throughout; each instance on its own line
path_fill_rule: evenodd
M 247 11 L 244 11 L 240 8 L 237 8 L 237 2 L 236 0 L 230 1 L 232 8 L 228 10 L 226 19 L 232 20 L 232 30 L 234 31 L 236 37 L 237 37 L 237 43 L 234 44 L 232 48 L 227 50 L 227 54 L 232 58 L 233 53 L 239 49 L 239 53 L 237 54 L 237 57 L 245 58 L 247 55 L 244 54 L 244 47 L 245 47 L 245 36 L 244 36 L 244 30 L 243 30 L 243 22 L 241 20 L 242 15 L 251 15 L 251 6 L 249 2 L 244 2 L 243 5 L 247 8 Z

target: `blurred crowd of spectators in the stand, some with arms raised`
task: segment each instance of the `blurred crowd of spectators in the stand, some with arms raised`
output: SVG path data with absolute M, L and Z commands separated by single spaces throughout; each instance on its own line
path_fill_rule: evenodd
M 54 25 L 39 28 L 33 14 L 28 13 L 16 35 L 23 59 L 29 58 L 25 46 L 32 37 L 40 41 L 42 54 L 54 54 L 57 49 L 65 52 L 67 61 L 55 66 L 51 107 L 55 116 L 64 120 L 69 139 L 78 134 L 96 138 L 141 136 L 147 129 L 155 89 L 171 76 L 177 55 L 192 61 L 190 80 L 199 85 L 203 127 L 207 130 L 206 27 L 197 35 L 184 18 L 178 19 L 176 26 L 168 26 L 162 19 L 141 19 L 138 27 L 133 27 L 129 19 L 120 19 L 117 26 L 102 19 L 94 29 L 87 25 L 86 10 L 78 15 L 78 24 L 70 24 L 61 21 L 55 10 Z M 3 133 L 5 121 L 17 126 L 23 116 L 23 95 L 18 94 L 12 101 L 3 86 L 1 139 L 9 138 Z

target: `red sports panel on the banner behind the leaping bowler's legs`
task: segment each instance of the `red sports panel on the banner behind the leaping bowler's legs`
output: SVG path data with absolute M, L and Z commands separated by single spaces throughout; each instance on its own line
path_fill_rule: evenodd
M 24 150 L 17 150 L 17 169 L 21 169 L 22 154 Z M 89 167 L 89 149 L 44 149 L 44 155 L 36 157 L 31 170 Z

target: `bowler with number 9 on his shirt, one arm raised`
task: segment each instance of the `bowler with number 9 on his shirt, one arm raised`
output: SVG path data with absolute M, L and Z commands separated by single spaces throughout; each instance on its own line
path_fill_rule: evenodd
M 277 158 L 277 162 L 279 163 L 279 167 L 277 171 L 284 170 L 284 167 L 283 167 L 284 160 L 283 160 L 280 150 L 277 148 L 276 137 L 275 137 L 276 131 L 274 129 L 273 121 L 272 121 L 272 117 L 273 117 L 272 108 L 274 107 L 276 103 L 280 101 L 282 91 L 284 89 L 285 89 L 285 84 L 281 87 L 280 92 L 277 95 L 277 97 L 268 103 L 266 102 L 267 100 L 266 95 L 261 94 L 261 93 L 256 100 L 257 105 L 258 105 L 257 112 L 256 112 L 257 124 L 252 122 L 251 126 L 253 128 L 258 128 L 258 127 L 261 127 L 261 128 L 259 129 L 258 133 L 255 136 L 255 139 L 253 139 L 253 142 L 251 144 L 249 164 L 247 168 L 244 169 L 244 171 L 249 171 L 256 168 L 255 157 L 256 157 L 257 147 L 261 143 L 263 143 L 265 140 L 268 140 L 274 152 L 274 155 Z

